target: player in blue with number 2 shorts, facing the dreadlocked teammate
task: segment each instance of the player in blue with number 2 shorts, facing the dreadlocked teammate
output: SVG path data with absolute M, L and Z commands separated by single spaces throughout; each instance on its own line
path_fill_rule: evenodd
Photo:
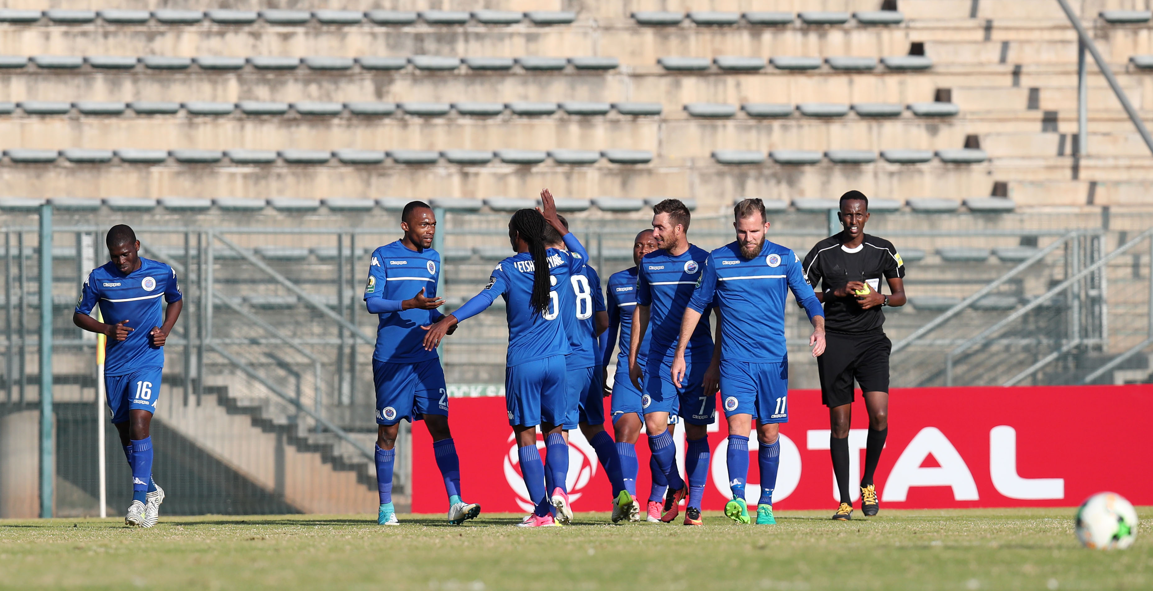
M 481 506 L 461 500 L 460 459 L 449 431 L 449 395 L 444 369 L 435 350 L 424 349 L 419 327 L 443 317 L 437 308 L 440 255 L 432 250 L 436 217 L 423 202 L 410 202 L 400 214 L 400 240 L 372 251 L 364 305 L 379 315 L 372 381 L 376 385 L 376 480 L 380 492 L 377 523 L 399 525 L 392 506 L 392 471 L 400 420 L 424 419 L 432 453 L 449 494 L 449 523 L 481 514 Z

